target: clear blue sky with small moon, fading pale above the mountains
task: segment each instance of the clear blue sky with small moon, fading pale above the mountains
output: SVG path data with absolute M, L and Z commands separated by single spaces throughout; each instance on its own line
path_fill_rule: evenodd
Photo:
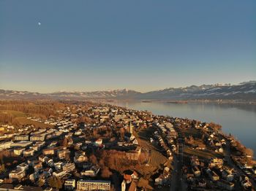
M 256 79 L 256 1 L 0 1 L 0 89 Z

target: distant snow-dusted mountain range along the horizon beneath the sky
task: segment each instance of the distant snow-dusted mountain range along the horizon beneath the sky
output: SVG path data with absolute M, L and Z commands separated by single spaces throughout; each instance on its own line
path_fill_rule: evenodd
M 164 90 L 155 90 L 140 93 L 134 90 L 110 90 L 92 92 L 56 92 L 31 93 L 27 91 L 0 90 L 0 99 L 22 98 L 53 98 L 84 100 L 89 98 L 102 99 L 140 99 L 140 100 L 243 100 L 256 101 L 256 81 L 242 82 L 238 85 L 192 85 L 189 87 L 170 87 Z

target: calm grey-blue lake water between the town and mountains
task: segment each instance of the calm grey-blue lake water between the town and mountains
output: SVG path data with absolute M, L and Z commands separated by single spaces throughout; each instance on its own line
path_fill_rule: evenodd
M 256 155 L 256 105 L 244 104 L 170 104 L 143 102 L 114 102 L 130 109 L 148 110 L 153 114 L 187 117 L 202 122 L 222 125 L 225 133 L 231 133 Z

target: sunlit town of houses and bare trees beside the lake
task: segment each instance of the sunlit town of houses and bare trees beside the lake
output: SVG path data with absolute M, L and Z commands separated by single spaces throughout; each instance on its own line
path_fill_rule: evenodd
M 0 101 L 0 190 L 253 190 L 213 122 L 89 101 Z

